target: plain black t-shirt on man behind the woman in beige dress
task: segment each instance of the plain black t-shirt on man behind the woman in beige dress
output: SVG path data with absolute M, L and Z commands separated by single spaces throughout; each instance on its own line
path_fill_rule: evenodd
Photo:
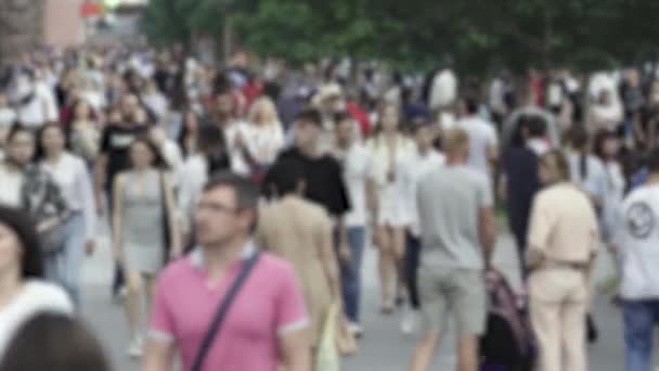
M 350 210 L 350 201 L 341 168 L 334 157 L 323 155 L 311 158 L 294 148 L 283 152 L 280 159 L 296 159 L 302 164 L 307 182 L 307 199 L 324 206 L 332 216 L 343 216 Z

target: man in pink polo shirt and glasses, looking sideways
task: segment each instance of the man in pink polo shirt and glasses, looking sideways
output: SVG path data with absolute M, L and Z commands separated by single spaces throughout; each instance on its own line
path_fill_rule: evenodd
M 193 369 L 216 312 L 257 254 L 250 233 L 258 187 L 222 174 L 208 182 L 196 213 L 199 247 L 158 279 L 145 371 L 171 371 L 175 353 Z M 232 302 L 199 370 L 311 370 L 309 320 L 288 263 L 261 253 Z

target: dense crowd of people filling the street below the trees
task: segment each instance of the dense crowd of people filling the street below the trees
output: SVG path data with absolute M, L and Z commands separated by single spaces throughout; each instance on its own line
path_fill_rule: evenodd
M 333 306 L 335 351 L 356 351 L 370 245 L 382 315 L 402 309 L 401 331 L 421 333 L 411 370 L 429 369 L 452 317 L 457 368 L 475 371 L 499 209 L 539 370 L 589 369 L 602 247 L 619 263 L 626 370 L 649 370 L 658 87 L 637 69 L 476 80 L 245 53 L 220 69 L 178 49 L 29 53 L 0 76 L 0 370 L 37 364 L 22 347 L 39 330 L 103 364 L 66 319 L 107 222 L 108 290 L 147 371 L 177 351 L 185 370 L 310 370 Z

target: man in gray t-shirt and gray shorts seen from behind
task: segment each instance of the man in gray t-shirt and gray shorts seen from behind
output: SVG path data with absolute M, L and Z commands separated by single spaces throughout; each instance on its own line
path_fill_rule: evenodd
M 478 370 L 478 338 L 486 327 L 483 270 L 491 264 L 496 233 L 492 190 L 487 177 L 467 165 L 468 133 L 452 129 L 444 141 L 447 166 L 422 178 L 417 189 L 418 291 L 426 327 L 412 371 L 429 369 L 451 314 L 458 338 L 457 370 Z

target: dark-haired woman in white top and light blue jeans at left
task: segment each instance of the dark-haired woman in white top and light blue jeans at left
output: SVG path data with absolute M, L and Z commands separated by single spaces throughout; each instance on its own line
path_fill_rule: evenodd
M 64 250 L 48 257 L 59 265 L 56 276 L 76 305 L 80 305 L 80 271 L 85 253 L 95 247 L 96 213 L 91 178 L 85 161 L 68 152 L 64 131 L 47 124 L 39 132 L 37 159 L 55 181 L 70 210 Z

